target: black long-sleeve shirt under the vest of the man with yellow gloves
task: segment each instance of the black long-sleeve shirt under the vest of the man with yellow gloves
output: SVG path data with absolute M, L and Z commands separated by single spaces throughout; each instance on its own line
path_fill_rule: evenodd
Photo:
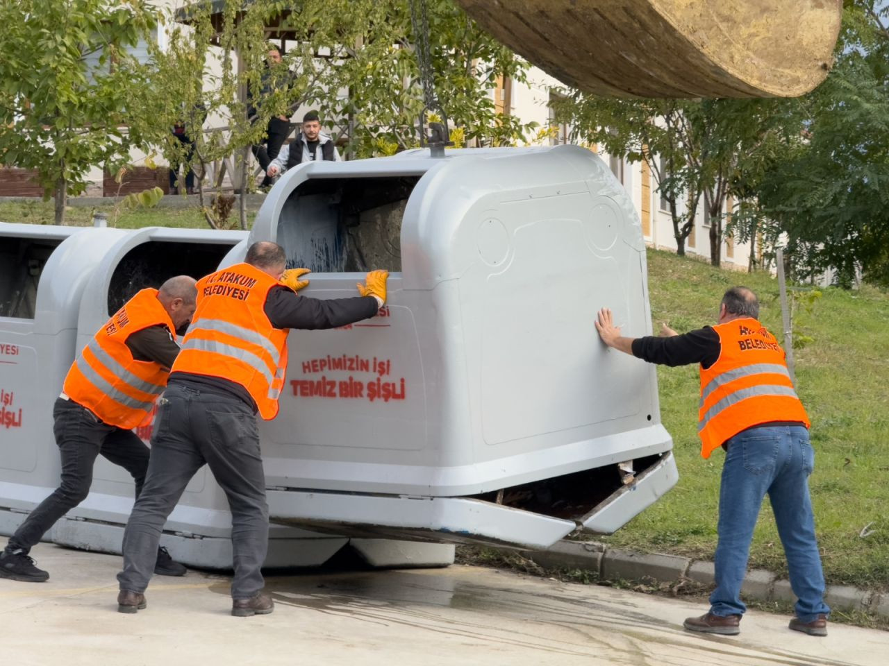
M 263 310 L 276 329 L 337 329 L 340 326 L 370 319 L 380 309 L 372 296 L 351 298 L 310 298 L 298 296 L 289 287 L 273 287 L 268 291 Z M 240 384 L 220 377 L 207 377 L 190 372 L 174 372 L 170 382 L 190 385 L 197 390 L 223 392 L 244 400 L 253 411 L 256 402 Z

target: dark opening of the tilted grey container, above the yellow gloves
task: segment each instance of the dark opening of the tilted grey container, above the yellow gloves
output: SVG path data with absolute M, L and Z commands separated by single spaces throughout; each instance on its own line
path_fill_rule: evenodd
M 277 242 L 287 267 L 316 273 L 401 270 L 404 207 L 419 176 L 311 178 L 287 198 Z

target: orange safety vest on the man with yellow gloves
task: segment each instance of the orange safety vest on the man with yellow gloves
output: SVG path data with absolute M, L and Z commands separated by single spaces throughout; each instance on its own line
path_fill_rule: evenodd
M 287 372 L 287 334 L 265 313 L 281 282 L 249 264 L 236 264 L 197 282 L 197 309 L 172 372 L 219 377 L 244 386 L 260 410 L 275 418 Z

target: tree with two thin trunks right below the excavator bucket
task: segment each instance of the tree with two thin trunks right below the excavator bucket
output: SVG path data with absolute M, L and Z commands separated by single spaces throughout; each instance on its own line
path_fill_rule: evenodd
M 553 107 L 575 138 L 604 147 L 630 163 L 645 161 L 669 203 L 677 253 L 685 254 L 698 207 L 709 219 L 710 262 L 719 266 L 728 194 L 739 198 L 740 171 L 776 133 L 799 121 L 796 100 L 620 99 L 568 91 Z

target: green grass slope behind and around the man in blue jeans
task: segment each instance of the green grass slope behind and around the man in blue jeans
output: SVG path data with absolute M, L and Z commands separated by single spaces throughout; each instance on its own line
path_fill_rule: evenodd
M 723 292 L 740 283 L 757 292 L 761 320 L 781 338 L 778 281 L 771 276 L 720 271 L 654 250 L 648 269 L 655 331 L 661 321 L 680 333 L 715 323 Z M 889 590 L 889 446 L 883 440 L 889 433 L 889 297 L 870 288 L 823 289 L 811 313 L 800 308 L 794 329 L 813 338 L 795 355 L 797 391 L 812 420 L 811 488 L 825 575 L 829 583 Z M 681 478 L 659 503 L 604 540 L 712 559 L 723 453 L 700 456 L 698 368 L 659 366 L 658 382 L 661 419 L 673 436 Z M 750 566 L 786 573 L 767 501 Z

